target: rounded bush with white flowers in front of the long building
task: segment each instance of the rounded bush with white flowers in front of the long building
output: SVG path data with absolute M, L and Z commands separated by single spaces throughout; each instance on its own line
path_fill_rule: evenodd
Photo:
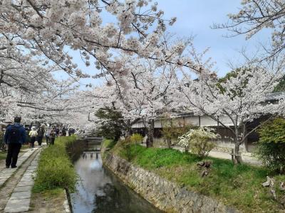
M 209 151 L 212 151 L 215 146 L 212 140 L 218 137 L 219 134 L 214 133 L 214 129 L 199 127 L 199 129 L 190 129 L 190 131 L 180 136 L 178 144 L 190 149 L 199 158 L 204 158 L 209 155 Z

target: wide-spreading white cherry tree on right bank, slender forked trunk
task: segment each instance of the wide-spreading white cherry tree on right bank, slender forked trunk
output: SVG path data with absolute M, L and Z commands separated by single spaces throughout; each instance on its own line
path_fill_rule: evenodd
M 281 101 L 284 95 L 276 97 L 276 103 L 266 101 L 282 76 L 280 71 L 273 72 L 257 65 L 240 67 L 222 81 L 204 75 L 192 80 L 184 73 L 178 84 L 176 104 L 195 114 L 207 115 L 229 129 L 234 135 L 235 161 L 241 163 L 239 146 L 258 128 L 247 132 L 246 125 L 260 116 L 274 116 L 284 111 Z

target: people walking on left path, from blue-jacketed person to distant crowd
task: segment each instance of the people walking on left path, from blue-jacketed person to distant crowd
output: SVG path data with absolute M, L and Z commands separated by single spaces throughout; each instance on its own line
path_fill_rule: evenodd
M 25 129 L 21 123 L 21 117 L 16 116 L 14 118 L 14 124 L 9 124 L 6 127 L 4 133 L 4 143 L 8 147 L 6 156 L 6 168 L 16 168 L 18 155 L 21 150 L 21 146 L 28 142 L 30 148 L 34 147 L 35 142 L 38 142 L 38 146 L 41 146 L 43 137 L 46 137 L 46 143 L 53 145 L 56 136 L 68 136 L 74 133 L 73 129 L 65 128 L 58 129 L 56 126 L 46 127 L 46 125 L 41 125 L 38 129 L 36 126 L 31 126 L 31 128 Z

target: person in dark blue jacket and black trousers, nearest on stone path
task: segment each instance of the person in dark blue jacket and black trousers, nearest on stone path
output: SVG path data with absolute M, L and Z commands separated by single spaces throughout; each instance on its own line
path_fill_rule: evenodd
M 18 155 L 22 144 L 26 143 L 26 130 L 20 124 L 21 118 L 15 117 L 14 124 L 8 126 L 4 135 L 4 142 L 8 145 L 6 168 L 16 168 Z

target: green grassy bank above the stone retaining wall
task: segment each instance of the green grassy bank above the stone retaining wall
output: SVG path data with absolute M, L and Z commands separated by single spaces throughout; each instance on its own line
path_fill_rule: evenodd
M 126 151 L 120 143 L 112 152 L 127 159 Z M 135 145 L 130 147 L 130 152 L 133 156 L 130 160 L 132 163 L 243 212 L 280 212 L 284 208 L 272 199 L 269 188 L 261 186 L 266 181 L 266 175 L 273 175 L 266 168 L 233 165 L 231 160 L 208 157 L 206 159 L 212 160 L 212 166 L 209 175 L 202 178 L 202 170 L 197 166 L 201 159 L 191 153 Z M 280 181 L 285 181 L 285 175 L 275 175 L 274 179 L 277 198 L 281 199 L 284 192 L 279 190 L 279 185 Z

